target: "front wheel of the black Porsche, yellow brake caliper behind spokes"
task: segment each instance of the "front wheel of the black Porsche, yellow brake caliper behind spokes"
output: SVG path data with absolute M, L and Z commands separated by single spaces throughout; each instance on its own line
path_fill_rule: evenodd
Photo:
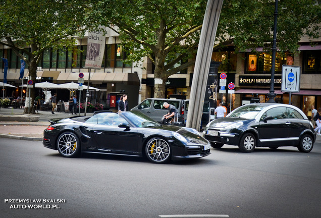
M 165 162 L 171 153 L 170 145 L 161 138 L 153 138 L 146 146 L 146 154 L 153 162 Z

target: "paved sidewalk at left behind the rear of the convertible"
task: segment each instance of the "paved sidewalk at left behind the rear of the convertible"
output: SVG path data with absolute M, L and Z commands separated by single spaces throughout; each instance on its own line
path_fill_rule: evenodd
M 0 108 L 0 116 L 10 117 L 15 121 L 0 121 L 0 137 L 15 138 L 21 140 L 35 140 L 42 141 L 43 130 L 49 126 L 49 120 L 53 118 L 70 118 L 76 115 L 69 115 L 69 113 L 51 111 L 38 111 L 39 114 L 24 115 L 24 110 L 13 108 Z M 87 113 L 86 116 L 92 116 L 93 113 Z M 80 114 L 84 116 L 83 113 Z M 21 117 L 34 116 L 39 119 L 38 122 L 21 122 Z

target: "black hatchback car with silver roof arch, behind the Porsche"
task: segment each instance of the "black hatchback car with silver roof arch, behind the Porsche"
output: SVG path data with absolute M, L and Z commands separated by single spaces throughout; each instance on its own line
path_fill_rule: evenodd
M 213 148 L 237 145 L 242 152 L 279 146 L 310 152 L 316 138 L 312 124 L 299 108 L 278 103 L 240 106 L 227 117 L 208 123 L 203 136 Z

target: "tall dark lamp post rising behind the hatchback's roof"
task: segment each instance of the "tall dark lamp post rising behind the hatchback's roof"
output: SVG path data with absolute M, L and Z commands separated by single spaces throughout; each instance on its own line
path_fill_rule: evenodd
M 277 52 L 277 18 L 278 18 L 278 0 L 275 1 L 275 11 L 274 11 L 274 30 L 273 30 L 273 46 L 272 46 L 272 69 L 271 69 L 271 87 L 270 92 L 267 94 L 269 100 L 267 102 L 275 103 L 275 96 L 274 93 L 274 73 L 275 73 L 275 59 L 276 59 L 276 52 Z

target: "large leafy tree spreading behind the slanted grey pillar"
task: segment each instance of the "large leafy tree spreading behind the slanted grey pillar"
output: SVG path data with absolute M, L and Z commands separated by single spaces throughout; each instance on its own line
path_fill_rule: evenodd
M 316 0 L 279 3 L 277 46 L 295 52 L 306 34 L 318 37 L 321 8 Z M 169 76 L 194 64 L 206 0 L 101 0 L 94 3 L 92 22 L 120 33 L 128 61 L 149 57 L 155 65 L 154 97 L 165 96 Z M 234 44 L 236 51 L 271 50 L 275 2 L 225 0 L 213 49 Z M 192 59 L 191 59 L 192 58 Z M 156 82 L 157 81 L 157 82 Z M 161 82 L 159 82 L 161 81 Z

